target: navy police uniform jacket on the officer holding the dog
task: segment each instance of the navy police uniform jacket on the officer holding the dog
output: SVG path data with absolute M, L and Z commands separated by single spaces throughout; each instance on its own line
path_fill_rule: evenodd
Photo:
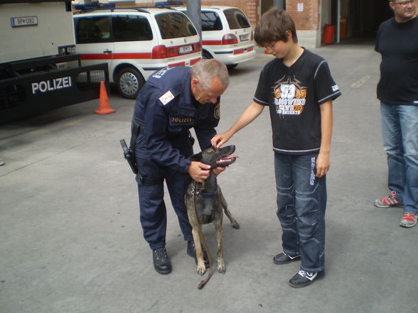
M 153 160 L 180 172 L 191 164 L 188 133 L 194 128 L 200 148 L 210 146 L 219 122 L 219 101 L 200 104 L 191 93 L 191 67 L 167 67 L 149 77 L 136 98 L 134 120 L 144 131 L 136 138 L 136 158 Z

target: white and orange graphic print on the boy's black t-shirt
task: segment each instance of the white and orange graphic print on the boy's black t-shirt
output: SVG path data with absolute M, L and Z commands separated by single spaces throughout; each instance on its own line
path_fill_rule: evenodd
M 306 104 L 306 87 L 296 77 L 282 77 L 273 86 L 274 105 L 277 114 L 299 115 Z

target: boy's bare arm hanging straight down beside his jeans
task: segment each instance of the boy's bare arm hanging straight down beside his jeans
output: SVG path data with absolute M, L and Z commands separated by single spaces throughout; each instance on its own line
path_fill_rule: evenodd
M 316 177 L 323 177 L 329 170 L 331 137 L 333 133 L 333 101 L 326 101 L 321 108 L 321 148 L 316 159 Z

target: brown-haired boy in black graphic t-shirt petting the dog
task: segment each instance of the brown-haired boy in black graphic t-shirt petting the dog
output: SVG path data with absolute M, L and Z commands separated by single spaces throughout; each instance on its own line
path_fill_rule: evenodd
M 286 11 L 264 13 L 254 40 L 275 59 L 264 66 L 252 104 L 225 133 L 219 147 L 269 106 L 272 121 L 277 216 L 283 252 L 276 264 L 301 259 L 291 287 L 305 287 L 323 274 L 326 172 L 330 165 L 332 101 L 341 95 L 325 60 L 298 45 Z

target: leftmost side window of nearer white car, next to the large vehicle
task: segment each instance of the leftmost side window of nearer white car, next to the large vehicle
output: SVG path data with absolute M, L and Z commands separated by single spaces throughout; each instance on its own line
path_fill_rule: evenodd
M 92 16 L 75 19 L 76 43 L 109 43 L 110 27 L 107 16 Z

